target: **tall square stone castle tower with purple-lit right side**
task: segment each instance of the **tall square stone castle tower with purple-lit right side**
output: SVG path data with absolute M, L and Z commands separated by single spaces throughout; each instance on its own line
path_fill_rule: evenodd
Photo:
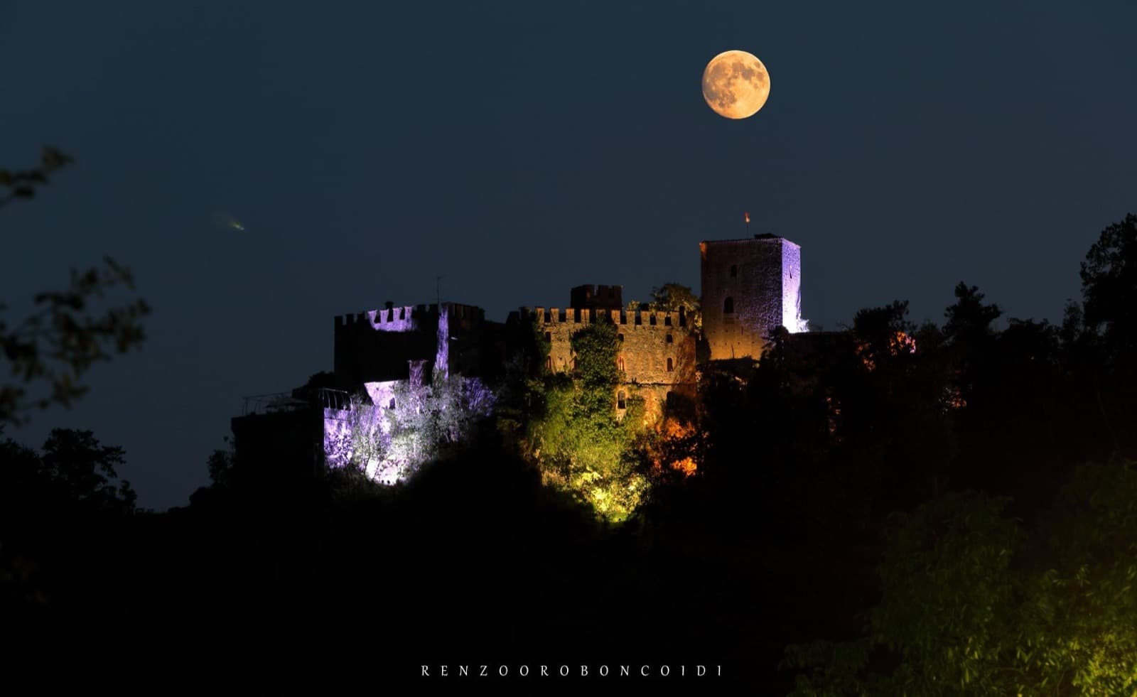
M 760 358 L 766 337 L 802 320 L 802 248 L 772 234 L 699 242 L 703 333 L 711 359 Z

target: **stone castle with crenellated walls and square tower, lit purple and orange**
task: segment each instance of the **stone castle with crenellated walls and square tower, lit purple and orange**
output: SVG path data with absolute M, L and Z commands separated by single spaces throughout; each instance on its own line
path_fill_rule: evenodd
M 395 409 L 399 385 L 450 375 L 493 382 L 534 331 L 549 348 L 543 368 L 572 373 L 572 335 L 596 322 L 611 322 L 617 332 L 617 417 L 634 395 L 645 400 L 645 421 L 654 420 L 673 395 L 694 398 L 697 356 L 757 360 L 775 329 L 806 330 L 797 244 L 771 234 L 703 241 L 699 258 L 700 332 L 692 322 L 695 308 L 628 308 L 620 285 L 579 285 L 566 307 L 526 306 L 505 322 L 457 302 L 388 304 L 337 316 L 331 374 L 317 374 L 291 393 L 247 398 L 244 413 L 232 420 L 238 462 L 265 463 L 280 473 L 284 458 L 292 463 L 285 470 L 318 471 L 333 459 L 332 443 L 345 435 L 350 392 L 362 389 L 375 408 Z

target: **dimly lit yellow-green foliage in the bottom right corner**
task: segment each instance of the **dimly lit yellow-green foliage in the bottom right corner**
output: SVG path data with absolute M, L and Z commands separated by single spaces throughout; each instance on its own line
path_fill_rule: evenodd
M 1006 503 L 952 493 L 897 516 L 866 636 L 790 647 L 810 670 L 796 694 L 1137 690 L 1135 463 L 1079 467 L 1034 538 Z

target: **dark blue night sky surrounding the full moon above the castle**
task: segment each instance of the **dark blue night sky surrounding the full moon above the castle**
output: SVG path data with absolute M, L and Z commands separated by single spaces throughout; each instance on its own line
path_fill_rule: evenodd
M 443 300 L 504 321 L 568 288 L 698 288 L 703 239 L 802 246 L 824 329 L 958 281 L 1060 321 L 1137 210 L 1131 0 L 0 5 L 0 166 L 76 164 L 0 210 L 9 321 L 110 255 L 152 307 L 70 410 L 140 505 L 207 483 L 241 397 L 332 367 L 332 317 Z M 704 102 L 742 49 L 771 94 Z M 229 225 L 238 221 L 243 231 Z

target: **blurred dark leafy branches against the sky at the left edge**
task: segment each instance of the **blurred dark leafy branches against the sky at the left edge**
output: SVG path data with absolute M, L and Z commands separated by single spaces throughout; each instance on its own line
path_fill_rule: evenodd
M 0 186 L 10 190 L 0 196 L 0 206 L 15 198 L 31 198 L 35 185 L 47 183 L 47 175 L 68 161 L 66 155 L 44 148 L 36 169 L 0 169 Z M 94 363 L 142 343 L 141 320 L 150 313 L 144 300 L 134 299 L 101 313 L 92 309 L 116 288 L 133 291 L 133 276 L 107 257 L 102 267 L 72 269 L 68 289 L 36 294 L 36 309 L 10 325 L 3 320 L 6 306 L 0 302 L 0 356 L 14 379 L 0 383 L 0 424 L 19 423 L 34 408 L 69 406 L 86 392 L 81 381 Z M 38 393 L 30 395 L 30 389 Z

